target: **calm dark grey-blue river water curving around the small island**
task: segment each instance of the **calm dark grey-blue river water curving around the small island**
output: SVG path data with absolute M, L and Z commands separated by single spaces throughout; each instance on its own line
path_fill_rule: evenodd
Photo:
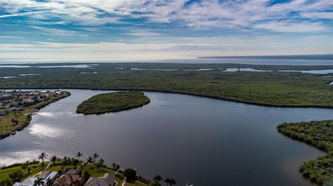
M 254 106 L 191 95 L 146 92 L 151 103 L 105 115 L 78 115 L 76 106 L 105 91 L 72 95 L 41 109 L 31 124 L 0 141 L 0 165 L 49 156 L 89 156 L 134 167 L 178 185 L 313 185 L 302 162 L 325 153 L 278 133 L 282 122 L 332 119 L 332 109 Z

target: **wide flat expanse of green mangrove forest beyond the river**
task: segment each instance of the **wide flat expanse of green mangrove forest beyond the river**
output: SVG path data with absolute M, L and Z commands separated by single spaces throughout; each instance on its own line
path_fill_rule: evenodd
M 116 69 L 123 68 L 123 69 Z M 176 68 L 178 71 L 134 71 L 130 68 Z M 183 69 L 214 68 L 212 71 Z M 99 64 L 94 68 L 6 68 L 0 89 L 99 89 L 161 91 L 212 97 L 266 106 L 317 106 L 333 108 L 333 77 L 287 72 L 225 72 L 218 68 L 262 70 L 333 69 L 333 66 L 255 66 L 245 64 Z M 94 74 L 81 74 L 80 72 Z M 2 73 L 2 72 L 1 72 Z

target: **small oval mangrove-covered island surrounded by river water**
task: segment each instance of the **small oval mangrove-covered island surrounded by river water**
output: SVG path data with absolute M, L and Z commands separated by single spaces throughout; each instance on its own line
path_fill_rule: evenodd
M 102 93 L 85 100 L 76 108 L 76 113 L 103 114 L 134 109 L 151 100 L 139 91 Z

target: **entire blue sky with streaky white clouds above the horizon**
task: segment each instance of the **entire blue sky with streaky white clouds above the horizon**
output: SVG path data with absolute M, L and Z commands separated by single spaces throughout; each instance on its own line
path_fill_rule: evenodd
M 1 61 L 332 53 L 332 0 L 0 0 Z

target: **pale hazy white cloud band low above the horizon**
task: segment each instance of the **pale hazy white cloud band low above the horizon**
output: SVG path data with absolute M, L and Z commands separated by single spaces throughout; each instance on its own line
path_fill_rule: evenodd
M 144 39 L 142 39 L 144 40 Z M 156 39 L 153 39 L 156 42 Z M 101 42 L 0 44 L 1 58 L 42 61 L 181 59 L 206 55 L 298 55 L 332 53 L 332 36 L 309 37 L 160 37 L 168 44 Z

